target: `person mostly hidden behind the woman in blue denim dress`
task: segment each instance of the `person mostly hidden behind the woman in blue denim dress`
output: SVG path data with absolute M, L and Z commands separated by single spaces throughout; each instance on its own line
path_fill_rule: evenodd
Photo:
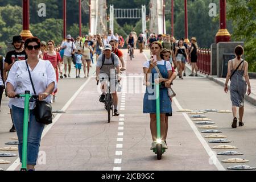
M 160 53 L 160 57 L 164 60 L 164 61 L 170 61 L 171 57 L 172 57 L 172 52 L 169 49 L 162 49 L 161 53 Z M 174 81 L 176 78 L 176 72 L 174 67 L 172 67 L 172 71 L 171 71 L 171 85 L 172 85 L 172 81 Z M 170 102 L 172 104 L 172 98 L 170 98 Z M 166 142 L 166 138 L 167 138 L 167 133 L 168 133 L 168 117 L 172 116 L 172 110 L 170 110 L 170 113 L 166 113 L 166 118 L 164 119 L 166 121 L 166 132 L 164 134 L 164 142 Z

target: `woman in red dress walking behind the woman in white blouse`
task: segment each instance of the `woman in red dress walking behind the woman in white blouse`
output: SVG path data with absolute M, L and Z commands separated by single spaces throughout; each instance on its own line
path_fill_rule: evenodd
M 44 53 L 43 60 L 48 60 L 52 63 L 52 66 L 56 73 L 56 81 L 58 82 L 59 80 L 58 68 L 59 68 L 61 77 L 63 77 L 62 76 L 63 73 L 62 73 L 62 68 L 60 64 L 60 61 L 61 61 L 60 53 L 55 51 L 54 44 L 55 43 L 53 40 L 48 40 L 47 46 L 49 50 L 46 53 Z M 56 101 L 56 93 L 57 93 L 57 89 L 55 90 L 55 92 L 52 93 L 51 103 Z

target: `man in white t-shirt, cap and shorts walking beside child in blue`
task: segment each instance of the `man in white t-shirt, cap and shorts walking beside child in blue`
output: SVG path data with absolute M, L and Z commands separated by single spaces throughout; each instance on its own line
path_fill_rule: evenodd
M 70 77 L 72 55 L 76 51 L 76 45 L 71 41 L 71 35 L 67 35 L 67 42 L 61 44 L 61 49 L 64 49 L 63 63 L 64 63 L 64 77 L 67 77 L 67 65 L 68 65 L 68 77 Z

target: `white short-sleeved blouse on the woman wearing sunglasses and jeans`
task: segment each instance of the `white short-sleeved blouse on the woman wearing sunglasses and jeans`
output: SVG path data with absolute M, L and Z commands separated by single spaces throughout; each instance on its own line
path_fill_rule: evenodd
M 31 71 L 31 68 L 29 69 L 36 94 L 43 93 L 47 86 L 52 82 L 55 82 L 55 88 L 53 91 L 56 90 L 56 73 L 50 61 L 39 59 L 34 70 Z M 27 71 L 26 60 L 16 61 L 13 64 L 5 84 L 7 84 L 7 82 L 10 82 L 10 84 L 14 86 L 14 91 L 17 94 L 24 94 L 26 90 L 29 90 L 30 94 L 35 94 Z M 44 101 L 50 102 L 51 96 L 49 95 Z M 24 108 L 24 98 L 10 98 L 9 106 L 11 105 Z M 35 102 L 30 102 L 30 109 L 34 109 L 34 107 Z

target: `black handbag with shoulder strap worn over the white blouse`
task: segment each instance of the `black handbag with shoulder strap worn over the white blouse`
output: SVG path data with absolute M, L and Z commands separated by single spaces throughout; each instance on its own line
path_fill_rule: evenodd
M 26 64 L 27 64 L 27 61 L 26 61 Z M 28 74 L 30 75 L 30 81 L 32 84 L 32 88 L 34 90 L 34 94 L 36 94 L 35 87 L 34 87 L 32 77 L 30 74 L 30 69 L 28 68 L 28 64 L 27 64 L 27 70 L 28 70 Z M 51 106 L 51 104 L 49 104 L 46 101 L 39 101 L 39 100 L 36 100 L 35 102 L 36 102 L 36 106 L 34 109 L 34 113 L 35 113 L 36 121 L 39 123 L 42 123 L 44 125 L 51 124 L 52 123 L 52 106 Z

